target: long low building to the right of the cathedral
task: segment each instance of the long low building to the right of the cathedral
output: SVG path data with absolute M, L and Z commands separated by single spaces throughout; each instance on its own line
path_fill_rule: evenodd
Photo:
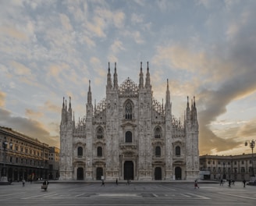
M 253 175 L 251 154 L 200 156 L 201 179 L 250 180 Z

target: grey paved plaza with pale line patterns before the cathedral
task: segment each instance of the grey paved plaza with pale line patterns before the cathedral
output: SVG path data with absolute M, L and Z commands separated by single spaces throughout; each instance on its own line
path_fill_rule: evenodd
M 235 183 L 55 183 L 41 190 L 40 183 L 0 186 L 1 205 L 255 205 L 256 186 Z

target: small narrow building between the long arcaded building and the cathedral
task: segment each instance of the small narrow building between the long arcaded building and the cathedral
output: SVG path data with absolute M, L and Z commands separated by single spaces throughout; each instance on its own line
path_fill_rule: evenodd
M 49 179 L 59 179 L 59 148 L 49 148 Z

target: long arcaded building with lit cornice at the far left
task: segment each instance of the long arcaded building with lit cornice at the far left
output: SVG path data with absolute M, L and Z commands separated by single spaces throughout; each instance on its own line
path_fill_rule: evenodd
M 5 154 L 3 144 L 6 144 Z M 27 137 L 10 128 L 0 126 L 0 171 L 4 163 L 9 180 L 35 180 L 48 178 L 48 144 Z

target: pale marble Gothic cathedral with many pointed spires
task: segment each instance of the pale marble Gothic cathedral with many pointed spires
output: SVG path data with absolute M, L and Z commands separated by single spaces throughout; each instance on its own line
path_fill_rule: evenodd
M 118 83 L 115 63 L 108 63 L 106 96 L 92 102 L 91 82 L 86 114 L 75 121 L 71 98 L 62 104 L 59 179 L 174 180 L 196 179 L 199 173 L 198 122 L 195 98 L 187 97 L 184 118 L 172 115 L 169 81 L 165 104 L 153 97 L 149 68 L 139 83 Z

